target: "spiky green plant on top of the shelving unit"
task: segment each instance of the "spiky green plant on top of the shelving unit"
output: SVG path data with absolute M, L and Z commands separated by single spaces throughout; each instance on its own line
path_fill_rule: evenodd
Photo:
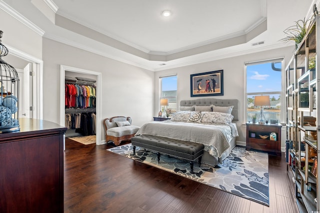
M 300 20 L 294 21 L 294 25 L 289 26 L 285 30 L 283 30 L 286 37 L 280 39 L 280 41 L 289 42 L 294 41 L 295 46 L 297 47 L 298 44 L 302 41 L 306 31 L 311 25 L 311 18 L 305 20 L 305 17 Z

